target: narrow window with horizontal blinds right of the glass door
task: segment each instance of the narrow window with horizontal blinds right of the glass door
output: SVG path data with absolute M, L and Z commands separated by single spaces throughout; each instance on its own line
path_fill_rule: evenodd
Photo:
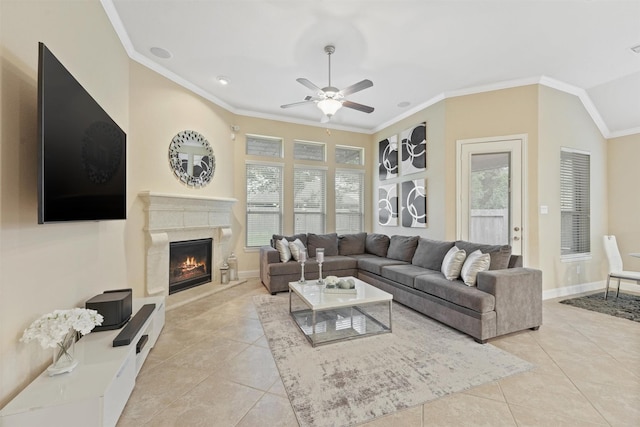
M 561 255 L 591 252 L 589 153 L 563 148 L 560 152 Z

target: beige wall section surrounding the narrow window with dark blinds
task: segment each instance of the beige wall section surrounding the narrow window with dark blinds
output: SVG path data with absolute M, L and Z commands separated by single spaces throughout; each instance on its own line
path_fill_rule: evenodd
M 573 95 L 539 87 L 540 138 L 537 182 L 539 204 L 549 207 L 540 215 L 540 268 L 543 289 L 557 290 L 598 282 L 604 278 L 602 236 L 607 233 L 607 142 Z M 566 261 L 560 257 L 560 148 L 591 153 L 591 257 Z M 562 291 L 560 291 L 562 292 Z

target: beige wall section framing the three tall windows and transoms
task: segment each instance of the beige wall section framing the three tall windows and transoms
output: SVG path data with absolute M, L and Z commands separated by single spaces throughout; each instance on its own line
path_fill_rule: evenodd
M 304 126 L 293 123 L 278 122 L 273 120 L 258 119 L 246 116 L 236 116 L 235 124 L 240 127 L 237 132 L 236 140 L 232 143 L 235 150 L 236 170 L 235 170 L 235 188 L 234 194 L 238 199 L 238 203 L 234 212 L 237 214 L 238 227 L 236 238 L 235 252 L 238 255 L 238 270 L 251 272 L 258 275 L 258 250 L 246 249 L 245 242 L 245 212 L 246 212 L 246 187 L 245 187 L 245 162 L 267 161 L 274 163 L 282 163 L 284 165 L 285 183 L 293 182 L 293 143 L 294 140 L 313 141 L 325 143 L 327 147 L 327 162 L 319 163 L 312 161 L 296 161 L 296 164 L 307 164 L 310 166 L 325 166 L 327 168 L 327 224 L 326 231 L 328 233 L 335 231 L 335 197 L 334 197 L 334 181 L 336 163 L 335 163 L 335 147 L 336 145 L 346 145 L 352 147 L 362 147 L 365 149 L 365 162 L 370 163 L 369 159 L 373 157 L 371 150 L 370 135 L 347 132 L 340 130 L 328 130 L 321 126 Z M 284 143 L 284 158 L 265 158 L 257 156 L 247 156 L 245 154 L 246 135 L 260 135 L 282 138 Z M 365 207 L 371 205 L 373 185 L 371 170 L 366 166 L 359 169 L 365 172 Z M 283 233 L 293 234 L 293 186 L 285 186 L 284 192 L 284 218 Z M 371 217 L 366 218 L 365 230 L 371 230 Z M 236 233 L 236 229 L 234 229 Z

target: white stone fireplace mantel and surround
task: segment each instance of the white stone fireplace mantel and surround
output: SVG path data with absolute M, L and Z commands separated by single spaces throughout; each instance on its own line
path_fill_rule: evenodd
M 219 267 L 228 255 L 231 208 L 236 199 L 185 196 L 144 191 L 139 193 L 146 212 L 146 292 L 169 293 L 169 245 L 171 242 L 213 239 L 212 282 L 220 282 Z

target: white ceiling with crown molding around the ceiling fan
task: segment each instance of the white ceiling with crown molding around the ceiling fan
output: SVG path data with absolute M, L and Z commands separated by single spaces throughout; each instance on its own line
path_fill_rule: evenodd
M 640 132 L 640 0 L 102 0 L 129 55 L 237 114 L 319 124 L 327 86 L 348 97 L 328 127 L 375 132 L 444 97 L 543 83 L 581 97 L 605 137 Z M 160 47 L 172 57 L 161 59 Z M 231 80 L 221 86 L 216 77 Z M 408 107 L 399 107 L 409 102 Z

